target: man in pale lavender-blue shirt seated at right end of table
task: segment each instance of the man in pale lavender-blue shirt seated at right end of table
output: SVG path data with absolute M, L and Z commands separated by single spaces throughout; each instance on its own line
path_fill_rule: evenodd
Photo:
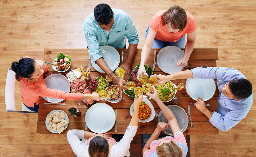
M 245 118 L 252 106 L 252 84 L 241 72 L 233 68 L 198 67 L 172 75 L 153 76 L 161 80 L 158 84 L 168 80 L 185 78 L 217 79 L 220 94 L 218 97 L 218 110 L 220 113 L 208 110 L 205 107 L 205 102 L 200 97 L 197 99 L 196 108 L 207 116 L 213 126 L 223 131 L 227 131 Z

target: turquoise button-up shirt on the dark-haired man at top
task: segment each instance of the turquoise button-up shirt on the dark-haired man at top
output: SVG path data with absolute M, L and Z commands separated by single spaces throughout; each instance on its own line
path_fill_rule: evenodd
M 85 39 L 89 47 L 89 55 L 93 62 L 102 57 L 100 46 L 109 45 L 116 49 L 124 48 L 124 38 L 128 39 L 129 44 L 138 44 L 139 35 L 131 17 L 120 9 L 112 9 L 114 12 L 114 24 L 107 35 L 91 13 L 83 22 Z

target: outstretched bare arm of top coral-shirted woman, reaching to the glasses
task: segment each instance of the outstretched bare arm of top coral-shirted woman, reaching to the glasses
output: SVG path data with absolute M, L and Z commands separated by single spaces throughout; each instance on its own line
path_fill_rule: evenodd
M 145 41 L 145 44 L 141 50 L 141 65 L 140 68 L 138 70 L 138 75 L 137 75 L 137 79 L 140 80 L 140 76 L 144 73 L 148 76 L 148 74 L 146 73 L 146 69 L 144 67 L 144 65 L 146 64 L 146 61 L 150 55 L 151 49 L 152 49 L 152 45 L 153 45 L 153 41 L 154 38 L 156 36 L 155 31 L 153 31 L 150 27 L 149 27 L 149 31 L 148 31 L 148 35 Z

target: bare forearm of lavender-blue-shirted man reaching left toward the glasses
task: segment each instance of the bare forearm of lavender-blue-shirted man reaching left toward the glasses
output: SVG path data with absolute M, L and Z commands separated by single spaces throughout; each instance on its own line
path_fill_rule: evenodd
M 191 70 L 186 70 L 186 71 L 180 71 L 170 75 L 154 74 L 152 76 L 155 76 L 156 78 L 160 79 L 160 81 L 157 83 L 157 86 L 158 86 L 159 84 L 166 83 L 167 81 L 170 81 L 170 80 L 193 78 L 193 73 Z

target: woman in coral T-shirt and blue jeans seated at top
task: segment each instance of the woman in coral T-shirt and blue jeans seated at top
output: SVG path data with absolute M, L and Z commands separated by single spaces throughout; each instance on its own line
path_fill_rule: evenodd
M 152 48 L 162 49 L 166 46 L 176 46 L 182 49 L 185 44 L 185 34 L 187 34 L 185 55 L 177 62 L 177 66 L 185 67 L 194 49 L 196 28 L 194 17 L 177 5 L 168 10 L 158 11 L 152 17 L 146 30 L 146 41 L 141 51 L 141 65 L 137 77 L 139 78 L 142 73 L 147 75 L 144 64 Z

